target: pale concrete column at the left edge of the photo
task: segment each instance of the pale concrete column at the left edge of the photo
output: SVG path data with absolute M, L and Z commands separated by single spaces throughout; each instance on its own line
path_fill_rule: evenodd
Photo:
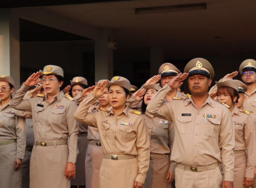
M 20 25 L 9 9 L 0 9 L 0 76 L 10 75 L 20 85 Z

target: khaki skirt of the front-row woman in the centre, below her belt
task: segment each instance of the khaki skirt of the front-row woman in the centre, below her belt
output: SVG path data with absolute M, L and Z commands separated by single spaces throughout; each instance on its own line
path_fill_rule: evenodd
M 137 173 L 137 158 L 127 160 L 103 158 L 100 167 L 100 187 L 133 188 Z

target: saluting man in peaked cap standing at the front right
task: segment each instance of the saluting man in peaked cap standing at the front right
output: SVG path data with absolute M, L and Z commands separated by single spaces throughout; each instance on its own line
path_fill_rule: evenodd
M 230 112 L 207 91 L 214 77 L 212 64 L 194 58 L 185 73 L 174 77 L 148 104 L 147 111 L 174 124 L 171 160 L 177 162 L 176 187 L 233 187 L 234 129 Z M 172 89 L 188 78 L 191 97 L 164 103 Z M 224 167 L 224 181 L 219 164 Z

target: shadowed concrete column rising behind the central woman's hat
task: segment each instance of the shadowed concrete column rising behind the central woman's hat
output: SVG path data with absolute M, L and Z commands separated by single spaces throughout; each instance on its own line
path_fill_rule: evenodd
M 95 40 L 95 81 L 113 77 L 113 49 L 108 48 L 110 38 L 112 38 L 112 31 L 102 29 Z

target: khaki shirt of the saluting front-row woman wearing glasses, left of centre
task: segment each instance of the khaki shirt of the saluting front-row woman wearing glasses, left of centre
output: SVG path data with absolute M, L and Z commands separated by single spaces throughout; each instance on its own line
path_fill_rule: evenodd
M 29 87 L 22 85 L 15 92 L 10 105 L 15 109 L 32 111 L 34 139 L 38 142 L 67 140 L 69 157 L 67 162 L 75 162 L 77 157 L 78 125 L 73 113 L 77 108 L 74 101 L 67 99 L 61 91 L 52 103 L 45 97 L 22 99 Z M 43 105 L 42 105 L 43 103 Z M 38 105 L 42 105 L 38 106 Z

